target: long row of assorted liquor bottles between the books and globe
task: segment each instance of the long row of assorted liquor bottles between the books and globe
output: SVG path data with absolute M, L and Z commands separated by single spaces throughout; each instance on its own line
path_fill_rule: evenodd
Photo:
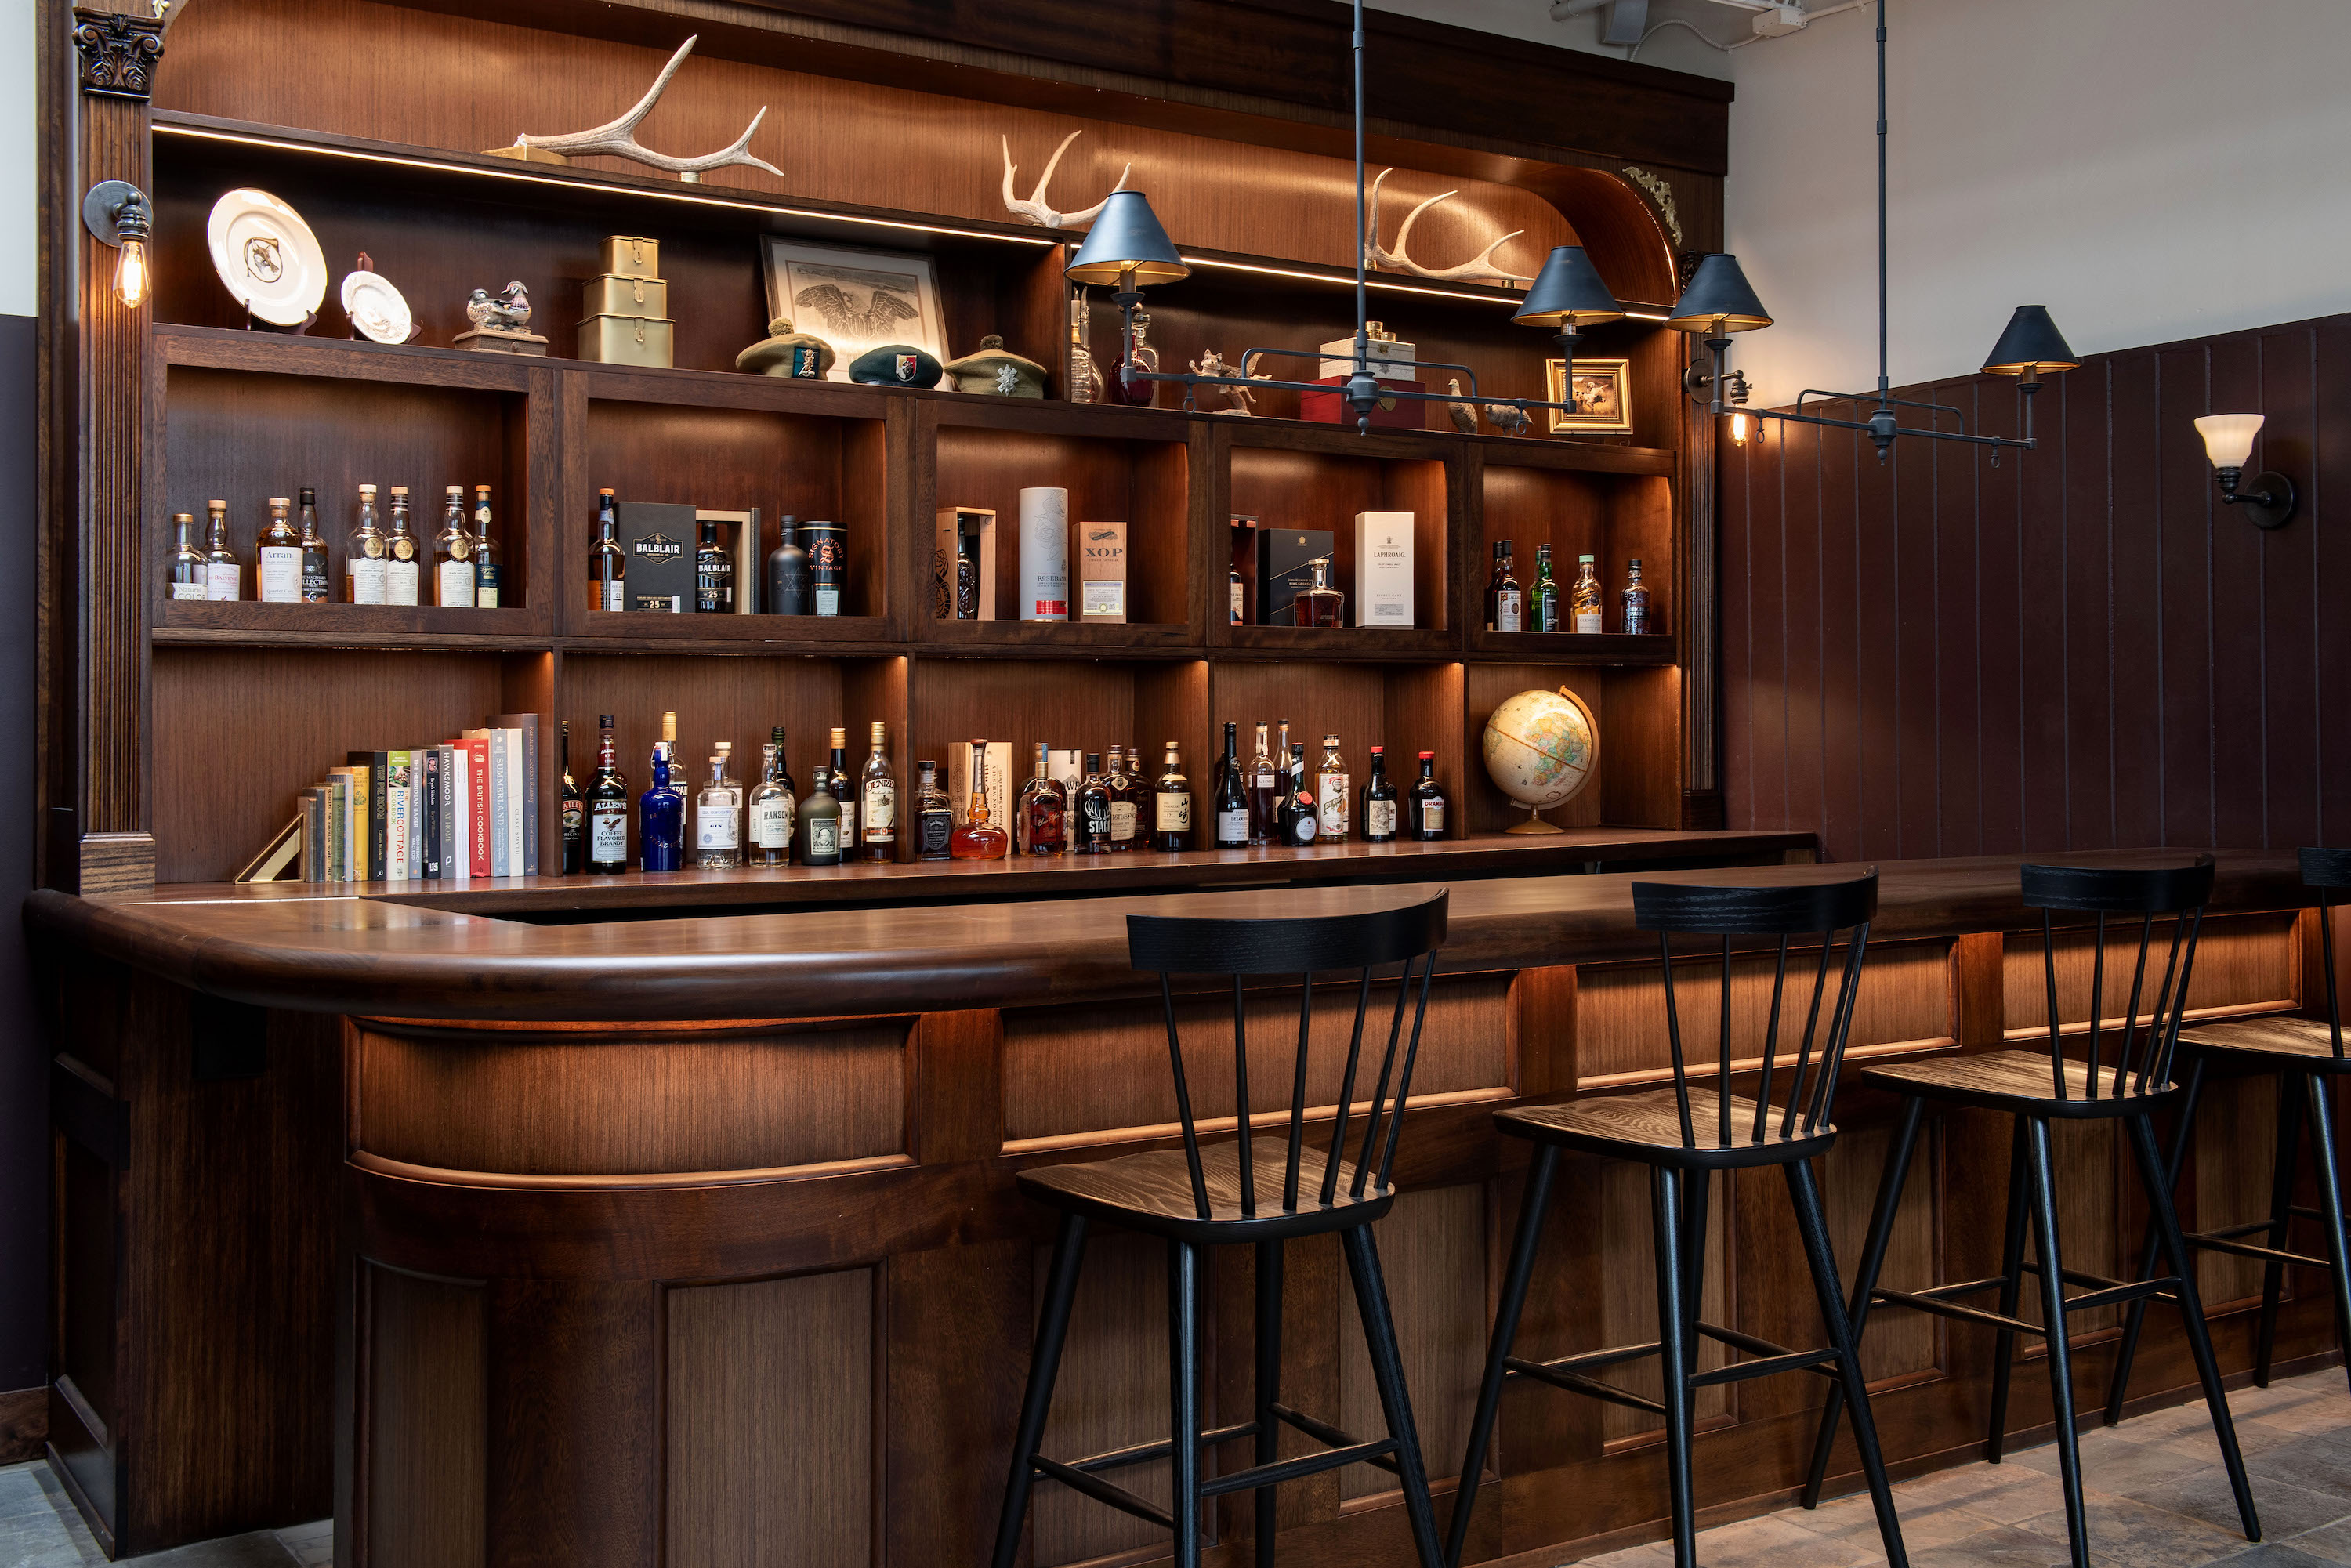
M 1239 757 L 1239 726 L 1225 724 L 1225 755 L 1208 792 L 1208 837 L 1215 849 L 1366 844 L 1446 837 L 1446 795 L 1436 783 L 1436 752 L 1420 752 L 1420 778 L 1399 797 L 1387 776 L 1387 752 L 1371 748 L 1371 778 L 1352 790 L 1338 736 L 1324 736 L 1324 759 L 1307 773 L 1307 748 L 1291 745 L 1281 722 L 1277 750 L 1258 724 L 1258 752 Z M 597 762 L 588 788 L 571 771 L 571 724 L 562 745 L 562 844 L 567 875 L 628 870 L 630 790 L 614 743 L 611 715 L 600 717 Z M 889 764 L 889 729 L 877 719 L 865 766 L 849 769 L 849 731 L 832 731 L 832 757 L 816 766 L 806 795 L 785 762 L 778 724 L 759 748 L 759 780 L 745 790 L 734 773 L 734 743 L 719 741 L 701 785 L 677 762 L 677 715 L 661 715 L 651 785 L 635 799 L 637 865 L 647 872 L 734 870 L 741 865 L 844 865 L 898 858 L 898 780 Z M 1157 778 L 1145 778 L 1143 755 L 1128 748 L 1086 752 L 1074 790 L 1051 771 L 1051 748 L 1037 743 L 1037 771 L 1011 804 L 1011 823 L 992 820 L 987 804 L 987 741 L 971 743 L 971 790 L 962 811 L 947 797 L 936 762 L 917 764 L 910 813 L 917 860 L 1002 860 L 1058 853 L 1180 853 L 1194 846 L 1192 780 L 1183 745 L 1166 743 Z M 691 802 L 691 804 L 689 804 Z M 691 839 L 691 844 L 689 844 Z

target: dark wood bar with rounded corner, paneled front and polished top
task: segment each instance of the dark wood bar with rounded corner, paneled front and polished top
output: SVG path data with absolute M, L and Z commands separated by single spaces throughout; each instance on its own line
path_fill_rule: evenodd
M 1709 849 L 1784 853 L 1686 853 Z M 724 889 L 602 910 L 564 907 L 560 886 L 35 893 L 59 1041 L 59 1474 L 118 1554 L 331 1509 L 336 1561 L 364 1568 L 985 1563 L 1051 1244 L 1013 1175 L 1176 1138 L 1166 1046 L 1138 1006 L 1121 917 L 1368 907 L 1444 863 L 1380 875 L 806 910 L 729 907 Z M 1491 1112 L 1669 1072 L 1629 882 L 1451 884 L 1404 1197 L 1378 1229 L 1439 1479 L 1460 1465 L 1519 1208 L 1523 1150 L 1495 1138 Z M 2306 994 L 2318 936 L 2302 905 L 2290 856 L 2224 851 L 2191 1016 L 2323 1006 Z M 2071 1023 L 2092 933 L 2064 943 Z M 2038 1032 L 2038 969 L 2015 860 L 1886 865 L 1848 1067 Z M 1740 978 L 1735 1030 L 1761 1034 L 1768 978 L 1763 957 Z M 1693 994 L 1707 985 L 1683 983 L 1697 1030 L 1716 1016 Z M 1342 1053 L 1335 1025 L 1310 1051 L 1324 1119 Z M 1227 1081 L 1206 1056 L 1194 1065 L 1204 1121 L 1232 1126 L 1239 1107 L 1213 1098 Z M 1893 1107 L 1855 1086 L 1841 1112 L 1822 1185 L 1850 1265 Z M 2201 1114 L 2212 1126 L 2182 1180 L 2189 1225 L 2257 1218 L 2269 1081 L 2219 1084 Z M 1991 1117 L 1930 1126 L 1890 1288 L 1994 1272 L 1977 1255 L 1996 1248 L 1994 1227 L 1942 1215 L 2001 1204 L 2005 1147 Z M 2125 1152 L 2111 1128 L 2067 1126 L 2059 1159 L 2069 1258 L 2125 1274 L 2142 1227 Z M 1784 1204 L 1770 1173 L 1749 1175 L 1714 1213 L 1704 1312 L 1815 1345 Z M 1563 1168 L 1519 1354 L 1650 1335 L 1646 1204 L 1636 1171 Z M 1114 1232 L 1091 1248 L 1049 1453 L 1164 1439 L 1161 1267 L 1157 1246 Z M 1248 1410 L 1248 1267 L 1244 1248 L 1208 1272 L 1206 1408 L 1220 1425 Z M 2224 1368 L 2243 1373 L 2259 1267 L 2205 1255 L 2201 1269 Z M 1380 1422 L 1378 1396 L 1340 1279 L 1328 1239 L 1291 1248 L 1284 1396 L 1361 1432 Z M 2280 1363 L 2332 1356 L 2323 1284 L 2292 1284 Z M 2135 1408 L 2193 1389 L 2175 1319 L 2156 1312 L 2149 1331 Z M 2085 1316 L 2078 1335 L 2083 1385 L 2102 1389 L 2114 1324 Z M 1864 1356 L 1897 1472 L 1980 1453 L 1989 1333 L 1886 1312 Z M 1784 1502 L 1817 1399 L 1810 1380 L 1707 1389 L 1700 1507 Z M 2024 1441 L 2048 1422 L 2038 1368 L 2017 1380 L 2012 1422 Z M 1657 1535 L 1657 1436 L 1639 1410 L 1512 1389 L 1465 1561 Z M 1857 1483 L 1850 1446 L 1834 1469 Z M 1164 1497 L 1164 1467 L 1131 1474 Z M 1246 1505 L 1218 1505 L 1211 1528 L 1218 1561 L 1246 1561 Z M 1389 1476 L 1284 1488 L 1279 1552 L 1298 1566 L 1408 1561 Z M 1161 1533 L 1039 1490 L 1030 1568 L 1164 1554 Z

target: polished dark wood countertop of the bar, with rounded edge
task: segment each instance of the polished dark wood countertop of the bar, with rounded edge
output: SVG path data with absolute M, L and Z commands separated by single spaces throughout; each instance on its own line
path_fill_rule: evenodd
M 2102 851 L 2076 863 L 2179 863 Z M 2311 903 L 2288 851 L 2217 851 L 2212 907 Z M 1876 938 L 2038 926 L 2020 858 L 1881 865 Z M 1453 886 L 1448 969 L 1533 969 L 1653 954 L 1629 884 L 1813 882 L 1853 865 L 1516 877 Z M 1138 898 L 966 903 L 529 924 L 327 893 L 303 884 L 174 886 L 148 896 L 38 891 L 38 943 L 87 947 L 216 997 L 273 1009 L 463 1020 L 828 1018 L 1138 994 L 1126 914 L 1331 914 L 1427 886 L 1305 886 Z

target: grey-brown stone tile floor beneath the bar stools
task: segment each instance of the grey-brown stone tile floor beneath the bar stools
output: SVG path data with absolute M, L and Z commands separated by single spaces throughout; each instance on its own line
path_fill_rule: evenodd
M 2238 1533 L 2203 1401 L 2081 1439 L 2090 1552 L 2128 1568 L 2351 1566 L 2351 1394 L 2325 1371 L 2238 1389 L 2238 1443 L 2262 1509 L 2262 1544 Z M 1963 1465 L 1895 1486 L 1914 1568 L 2062 1568 L 2064 1497 L 2048 1443 L 2005 1465 Z M 85 1568 L 106 1556 L 42 1462 L 0 1469 L 0 1568 Z M 139 1559 L 150 1568 L 327 1568 L 329 1521 L 259 1530 Z M 1672 1568 L 1667 1542 L 1585 1559 L 1585 1568 Z M 1881 1563 L 1867 1495 L 1784 1509 L 1697 1537 L 1702 1568 L 1860 1568 Z

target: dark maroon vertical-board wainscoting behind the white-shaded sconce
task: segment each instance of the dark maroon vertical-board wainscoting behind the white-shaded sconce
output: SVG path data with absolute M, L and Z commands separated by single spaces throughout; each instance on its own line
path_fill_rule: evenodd
M 2017 433 L 2005 376 L 1900 395 Z M 1838 860 L 2344 842 L 2351 315 L 2097 355 L 2038 402 L 1998 468 L 1721 437 L 1728 825 Z M 2212 411 L 2269 416 L 2285 529 L 2219 501 Z

